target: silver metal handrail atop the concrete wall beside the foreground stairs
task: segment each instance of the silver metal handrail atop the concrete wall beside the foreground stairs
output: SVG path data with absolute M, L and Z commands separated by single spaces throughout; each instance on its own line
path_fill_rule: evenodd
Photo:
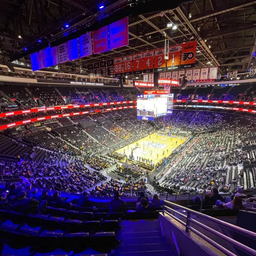
M 212 246 L 214 246 L 215 248 L 220 250 L 225 255 L 236 256 L 237 254 L 228 250 L 227 248 L 220 245 L 219 243 L 215 242 L 214 239 L 210 238 L 209 236 L 206 236 L 205 234 L 203 234 L 202 233 L 203 231 L 210 232 L 211 234 L 220 238 L 222 242 L 224 242 L 224 243 L 226 242 L 227 244 L 232 245 L 233 247 L 247 253 L 248 255 L 252 255 L 252 256 L 256 255 L 256 250 L 254 250 L 238 241 L 235 241 L 230 236 L 227 236 L 227 235 L 217 231 L 216 229 L 211 228 L 210 226 L 203 224 L 202 221 L 204 220 L 206 222 L 213 222 L 215 225 L 217 224 L 217 225 L 221 226 L 222 228 L 228 229 L 229 231 L 231 230 L 233 232 L 239 233 L 239 236 L 249 237 L 256 242 L 256 233 L 254 233 L 252 231 L 229 224 L 229 223 L 221 221 L 219 219 L 215 219 L 215 218 L 207 216 L 205 214 L 190 210 L 186 207 L 183 207 L 181 205 L 178 205 L 178 204 L 175 204 L 175 203 L 172 203 L 169 201 L 164 201 L 162 213 L 163 213 L 163 215 L 168 215 L 171 218 L 173 218 L 174 220 L 178 221 L 180 224 L 182 224 L 185 227 L 186 232 L 192 231 L 193 233 L 195 233 L 196 235 L 198 235 L 199 237 L 204 239 L 206 242 L 208 242 L 209 244 L 211 244 Z M 199 222 L 198 220 L 195 220 L 195 217 L 200 218 L 201 222 Z

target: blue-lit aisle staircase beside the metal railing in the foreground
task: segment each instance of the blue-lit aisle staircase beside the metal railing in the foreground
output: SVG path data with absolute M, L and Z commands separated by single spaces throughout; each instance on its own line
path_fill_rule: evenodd
M 125 220 L 121 224 L 121 243 L 115 255 L 177 255 L 159 231 L 158 220 Z

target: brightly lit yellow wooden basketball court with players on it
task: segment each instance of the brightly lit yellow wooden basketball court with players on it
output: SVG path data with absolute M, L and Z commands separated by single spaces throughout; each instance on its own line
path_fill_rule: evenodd
M 171 152 L 186 141 L 186 137 L 173 137 L 153 133 L 142 139 L 137 140 L 128 146 L 117 150 L 120 154 L 131 155 L 132 149 L 134 159 L 143 157 L 152 160 L 153 163 L 159 162 L 162 158 L 167 157 Z M 177 143 L 176 143 L 177 142 Z

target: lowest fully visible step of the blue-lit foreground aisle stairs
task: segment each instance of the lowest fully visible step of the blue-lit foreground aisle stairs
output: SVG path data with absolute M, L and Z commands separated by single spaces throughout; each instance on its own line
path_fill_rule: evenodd
M 150 251 L 156 251 L 156 250 L 169 250 L 167 243 L 161 243 L 161 244 L 134 244 L 134 245 L 123 245 L 120 246 L 119 250 L 120 252 L 150 252 Z

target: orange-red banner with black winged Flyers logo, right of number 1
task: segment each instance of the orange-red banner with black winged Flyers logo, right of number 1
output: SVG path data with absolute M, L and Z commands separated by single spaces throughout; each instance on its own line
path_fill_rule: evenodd
M 182 44 L 181 68 L 193 68 L 196 61 L 196 41 Z

